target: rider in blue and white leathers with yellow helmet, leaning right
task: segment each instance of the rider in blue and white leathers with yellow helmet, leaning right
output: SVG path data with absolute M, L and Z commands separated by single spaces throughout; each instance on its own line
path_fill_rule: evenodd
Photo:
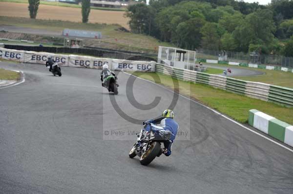
M 169 131 L 171 133 L 171 136 L 169 138 L 169 141 L 164 142 L 164 146 L 165 148 L 163 148 L 161 150 L 160 154 L 165 154 L 166 156 L 170 156 L 171 155 L 171 145 L 174 142 L 174 139 L 176 137 L 177 131 L 178 131 L 178 123 L 176 123 L 174 120 L 174 113 L 172 110 L 167 109 L 164 110 L 163 112 L 163 116 L 158 118 L 158 119 L 154 119 L 154 120 L 148 120 L 146 122 L 144 122 L 145 124 L 145 131 L 146 131 L 146 137 L 148 136 L 150 129 L 152 129 L 152 131 L 156 132 L 156 131 L 161 131 L 162 128 L 163 130 Z M 153 124 L 161 124 L 161 127 L 155 127 L 154 125 L 151 125 L 150 123 Z

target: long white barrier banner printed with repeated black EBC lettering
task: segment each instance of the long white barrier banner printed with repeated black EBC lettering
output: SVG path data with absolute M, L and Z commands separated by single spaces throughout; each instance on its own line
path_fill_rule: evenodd
M 74 54 L 54 54 L 33 51 L 19 51 L 0 48 L 0 59 L 13 60 L 24 63 L 45 64 L 47 56 L 58 62 L 61 66 L 102 69 L 107 64 L 111 70 L 118 71 L 155 71 L 154 61 L 136 61 L 111 58 L 98 58 Z

